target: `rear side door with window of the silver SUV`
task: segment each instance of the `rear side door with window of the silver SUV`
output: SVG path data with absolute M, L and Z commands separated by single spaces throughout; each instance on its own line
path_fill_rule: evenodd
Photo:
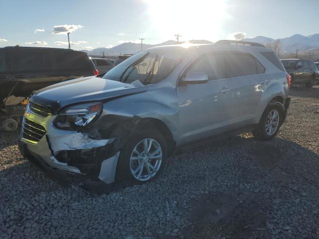
M 252 123 L 267 83 L 265 67 L 245 51 L 225 51 L 226 77 L 233 97 L 231 128 Z

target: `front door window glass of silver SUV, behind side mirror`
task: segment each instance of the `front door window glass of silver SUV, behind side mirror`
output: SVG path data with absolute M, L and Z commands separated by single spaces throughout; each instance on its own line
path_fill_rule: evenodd
M 220 52 L 208 53 L 199 56 L 190 69 L 189 72 L 206 73 L 209 81 L 225 79 L 225 63 L 224 57 Z

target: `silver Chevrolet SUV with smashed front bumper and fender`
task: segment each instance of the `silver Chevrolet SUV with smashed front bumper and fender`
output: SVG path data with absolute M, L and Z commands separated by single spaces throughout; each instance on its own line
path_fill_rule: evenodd
M 19 148 L 51 173 L 144 183 L 181 145 L 250 130 L 272 139 L 286 118 L 289 85 L 278 57 L 258 43 L 153 47 L 103 78 L 35 92 Z

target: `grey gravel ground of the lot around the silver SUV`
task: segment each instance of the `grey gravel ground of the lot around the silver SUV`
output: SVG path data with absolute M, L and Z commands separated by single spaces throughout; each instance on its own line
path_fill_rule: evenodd
M 102 195 L 57 184 L 1 133 L 0 238 L 318 239 L 319 86 L 291 97 L 274 140 L 207 142 L 157 181 Z

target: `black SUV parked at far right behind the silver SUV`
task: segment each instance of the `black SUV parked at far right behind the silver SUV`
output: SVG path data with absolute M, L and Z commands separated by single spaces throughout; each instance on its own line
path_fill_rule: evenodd
M 302 83 L 305 83 L 307 87 L 314 86 L 317 74 L 315 62 L 300 59 L 284 59 L 281 62 L 291 75 L 291 86 Z

